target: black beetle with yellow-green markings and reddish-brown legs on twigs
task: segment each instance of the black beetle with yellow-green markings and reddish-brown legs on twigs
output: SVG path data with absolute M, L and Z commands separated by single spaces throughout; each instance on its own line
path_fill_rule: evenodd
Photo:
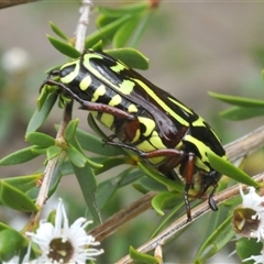
M 188 191 L 195 182 L 199 183 L 197 197 L 210 188 L 209 206 L 218 209 L 213 194 L 221 175 L 211 167 L 208 153 L 227 158 L 222 144 L 200 116 L 172 95 L 122 62 L 92 50 L 52 70 L 45 85 L 58 86 L 109 128 L 114 136 L 108 144 L 135 152 L 170 179 L 179 174 L 188 220 Z

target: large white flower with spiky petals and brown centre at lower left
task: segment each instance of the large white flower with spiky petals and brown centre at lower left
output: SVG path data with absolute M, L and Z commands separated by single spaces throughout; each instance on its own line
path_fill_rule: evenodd
M 55 226 L 42 220 L 36 233 L 28 232 L 42 252 L 37 263 L 86 263 L 95 260 L 94 256 L 103 253 L 103 250 L 91 249 L 99 245 L 92 235 L 88 235 L 85 228 L 91 223 L 85 218 L 78 218 L 70 227 L 63 201 L 59 200 L 56 210 Z

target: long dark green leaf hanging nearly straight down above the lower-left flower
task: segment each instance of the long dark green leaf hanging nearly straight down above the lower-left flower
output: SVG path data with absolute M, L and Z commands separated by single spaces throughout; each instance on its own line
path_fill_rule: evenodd
M 94 221 L 101 222 L 101 216 L 96 201 L 97 180 L 91 167 L 86 163 L 85 167 L 73 164 L 74 172 L 79 183 L 86 205 L 94 217 Z

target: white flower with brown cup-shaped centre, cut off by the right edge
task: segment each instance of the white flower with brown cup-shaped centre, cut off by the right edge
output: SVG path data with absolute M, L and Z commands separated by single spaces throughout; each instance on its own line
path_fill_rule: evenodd
M 244 194 L 240 186 L 240 194 L 243 201 L 234 210 L 235 231 L 243 237 L 255 238 L 257 242 L 264 240 L 264 197 L 258 196 L 254 187 L 249 187 L 249 193 Z

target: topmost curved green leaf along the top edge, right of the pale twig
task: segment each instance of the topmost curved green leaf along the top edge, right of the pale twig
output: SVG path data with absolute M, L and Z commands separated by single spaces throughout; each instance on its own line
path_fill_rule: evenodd
M 119 9 L 111 9 L 106 7 L 98 7 L 98 11 L 109 18 L 120 18 L 128 13 L 140 14 L 150 8 L 150 2 L 138 2 L 128 6 L 123 6 Z

